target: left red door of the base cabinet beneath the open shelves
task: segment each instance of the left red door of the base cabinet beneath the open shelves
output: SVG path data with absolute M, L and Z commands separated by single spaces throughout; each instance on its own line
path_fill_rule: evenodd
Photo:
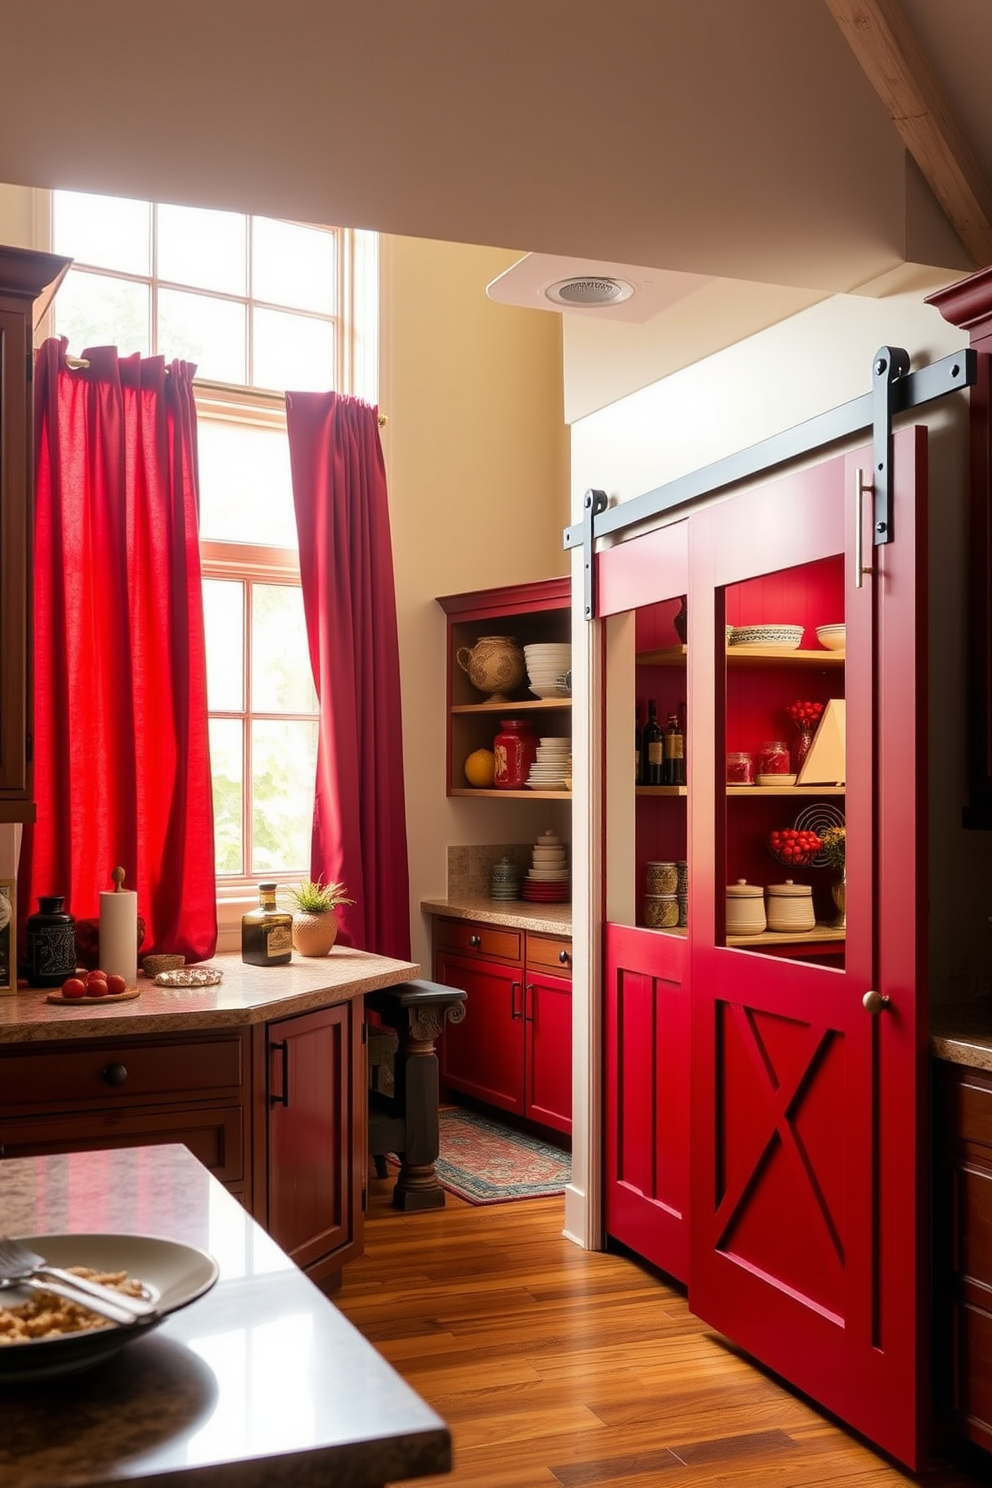
M 524 978 L 519 967 L 437 952 L 436 981 L 466 991 L 466 1016 L 445 1024 L 442 1085 L 524 1115 Z

